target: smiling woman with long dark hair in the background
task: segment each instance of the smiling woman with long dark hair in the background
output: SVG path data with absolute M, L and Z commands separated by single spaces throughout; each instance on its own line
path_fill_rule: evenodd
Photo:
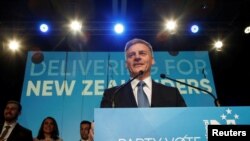
M 53 117 L 46 117 L 40 126 L 38 135 L 34 141 L 62 141 L 59 137 L 57 122 Z

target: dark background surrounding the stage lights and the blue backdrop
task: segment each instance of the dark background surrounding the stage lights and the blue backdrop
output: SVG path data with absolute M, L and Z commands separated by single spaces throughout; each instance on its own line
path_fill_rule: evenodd
M 7 100 L 20 100 L 28 51 L 123 51 L 127 40 L 138 37 L 155 51 L 209 51 L 216 91 L 222 106 L 250 106 L 248 0 L 1 0 L 0 1 L 0 112 Z M 178 20 L 175 35 L 162 32 L 167 18 Z M 67 31 L 70 19 L 84 21 L 82 35 Z M 123 36 L 112 32 L 115 21 L 128 26 Z M 48 34 L 37 28 L 51 24 Z M 201 30 L 189 32 L 192 23 Z M 21 39 L 22 49 L 6 48 L 9 38 Z M 213 41 L 222 39 L 216 52 Z M 2 114 L 1 114 L 2 119 Z

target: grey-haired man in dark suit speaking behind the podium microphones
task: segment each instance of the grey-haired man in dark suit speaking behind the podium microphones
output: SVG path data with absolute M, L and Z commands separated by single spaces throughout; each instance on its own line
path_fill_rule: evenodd
M 157 83 L 151 78 L 151 66 L 155 63 L 151 44 L 142 39 L 132 39 L 125 46 L 126 67 L 130 83 L 106 89 L 101 107 L 186 107 L 177 88 Z M 140 106 L 139 86 L 142 83 L 146 106 Z

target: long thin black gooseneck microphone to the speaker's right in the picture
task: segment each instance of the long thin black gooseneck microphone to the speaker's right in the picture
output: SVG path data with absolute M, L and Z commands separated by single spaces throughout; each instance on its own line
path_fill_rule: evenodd
M 195 87 L 195 86 L 193 86 L 193 85 L 189 85 L 189 84 L 187 84 L 187 83 L 184 83 L 184 82 L 175 80 L 175 79 L 173 79 L 173 78 L 167 77 L 165 74 L 161 74 L 160 76 L 161 76 L 161 78 L 163 78 L 163 79 L 169 79 L 169 80 L 172 80 L 172 81 L 175 81 L 175 82 L 178 82 L 178 83 L 184 84 L 184 85 L 186 85 L 186 86 L 189 86 L 189 87 L 195 88 L 195 89 L 197 89 L 197 90 L 200 90 L 200 91 L 203 91 L 203 92 L 208 93 L 208 94 L 214 99 L 214 104 L 215 104 L 215 106 L 216 106 L 216 107 L 220 107 L 220 102 L 219 102 L 219 100 L 218 100 L 211 92 L 209 92 L 209 91 L 207 91 L 207 90 L 204 90 L 204 89 L 201 89 L 201 88 L 199 88 L 199 87 Z

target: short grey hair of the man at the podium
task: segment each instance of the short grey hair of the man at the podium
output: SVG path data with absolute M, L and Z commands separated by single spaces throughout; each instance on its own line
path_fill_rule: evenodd
M 152 45 L 151 45 L 149 42 L 147 42 L 147 41 L 145 41 L 145 40 L 143 40 L 143 39 L 138 39 L 138 38 L 129 40 L 129 41 L 126 43 L 125 49 L 124 49 L 125 53 L 127 52 L 127 50 L 128 50 L 132 45 L 137 44 L 137 43 L 141 43 L 141 44 L 146 45 L 146 46 L 149 48 L 149 50 L 150 50 L 150 52 L 151 52 L 151 55 L 154 56 L 154 55 L 153 55 L 153 48 L 152 48 Z M 125 55 L 125 58 L 126 58 L 126 55 Z

